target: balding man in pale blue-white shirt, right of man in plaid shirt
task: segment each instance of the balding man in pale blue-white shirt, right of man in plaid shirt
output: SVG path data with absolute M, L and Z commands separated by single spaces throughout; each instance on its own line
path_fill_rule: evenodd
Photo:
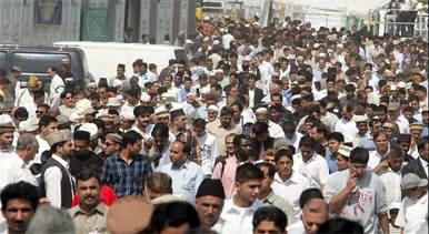
M 197 190 L 204 174 L 201 166 L 188 160 L 190 149 L 183 142 L 176 141 L 170 145 L 170 162 L 158 167 L 171 176 L 172 192 L 193 204 Z

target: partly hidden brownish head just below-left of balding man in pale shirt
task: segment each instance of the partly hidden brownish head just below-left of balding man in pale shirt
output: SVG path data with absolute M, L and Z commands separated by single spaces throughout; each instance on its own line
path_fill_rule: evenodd
M 143 192 L 150 200 L 154 200 L 166 194 L 172 194 L 172 181 L 170 175 L 162 172 L 153 172 L 146 180 Z

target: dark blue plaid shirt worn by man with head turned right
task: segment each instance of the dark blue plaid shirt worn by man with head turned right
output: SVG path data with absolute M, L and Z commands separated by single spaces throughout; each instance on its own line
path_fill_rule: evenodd
M 152 173 L 149 159 L 136 155 L 127 163 L 119 154 L 104 161 L 101 181 L 114 189 L 118 197 L 141 195 L 144 180 Z

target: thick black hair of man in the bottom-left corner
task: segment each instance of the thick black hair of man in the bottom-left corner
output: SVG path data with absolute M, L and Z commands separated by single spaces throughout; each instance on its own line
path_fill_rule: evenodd
M 6 211 L 8 202 L 14 199 L 21 199 L 30 202 L 31 207 L 36 211 L 39 205 L 39 192 L 38 189 L 24 181 L 9 184 L 1 191 L 1 210 Z

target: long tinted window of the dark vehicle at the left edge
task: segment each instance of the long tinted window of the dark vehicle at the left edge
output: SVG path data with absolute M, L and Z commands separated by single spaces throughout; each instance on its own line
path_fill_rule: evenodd
M 67 53 L 16 52 L 11 54 L 12 65 L 22 69 L 22 73 L 44 74 L 49 67 L 70 61 Z

